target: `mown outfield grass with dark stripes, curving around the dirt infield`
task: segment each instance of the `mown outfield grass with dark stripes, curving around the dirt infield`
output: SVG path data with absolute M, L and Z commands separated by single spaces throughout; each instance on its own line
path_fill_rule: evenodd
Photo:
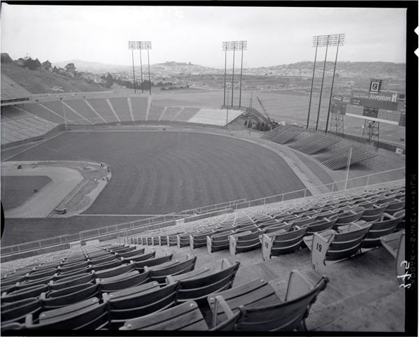
M 69 132 L 11 160 L 109 164 L 112 180 L 87 214 L 166 214 L 304 188 L 274 152 L 240 139 L 192 132 Z M 106 220 L 122 221 L 129 219 Z M 73 217 L 48 220 L 35 231 L 36 222 L 10 222 L 13 230 L 6 231 L 4 245 L 105 225 L 101 217 Z

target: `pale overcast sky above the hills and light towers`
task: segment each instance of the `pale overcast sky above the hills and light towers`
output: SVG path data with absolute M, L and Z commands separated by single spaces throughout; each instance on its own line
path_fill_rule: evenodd
M 1 6 L 1 52 L 52 63 L 129 65 L 128 41 L 152 41 L 152 64 L 223 68 L 222 41 L 247 40 L 244 68 L 274 66 L 312 61 L 314 35 L 341 33 L 339 61 L 405 62 L 404 8 Z

